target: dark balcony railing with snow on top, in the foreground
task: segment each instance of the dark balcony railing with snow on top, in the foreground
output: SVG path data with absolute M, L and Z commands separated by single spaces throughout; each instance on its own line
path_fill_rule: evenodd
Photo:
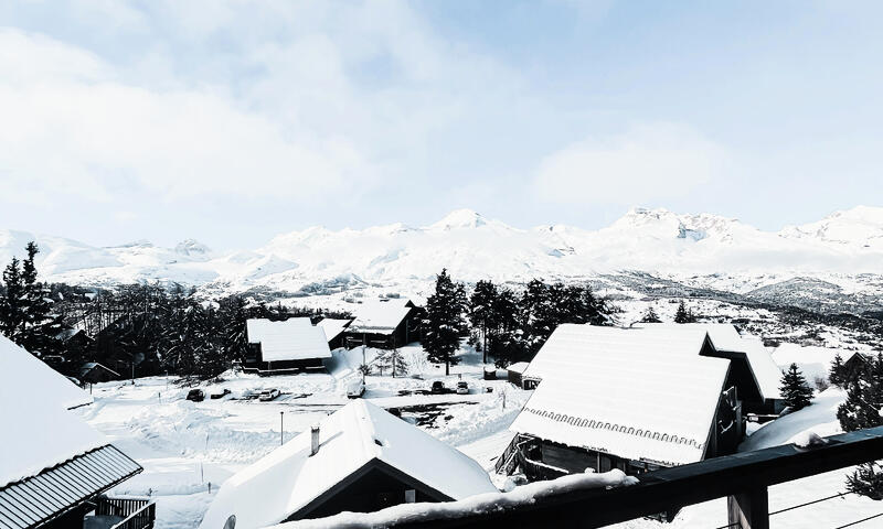
M 284 527 L 294 529 L 343 523 L 351 528 L 598 528 L 659 514 L 671 515 L 687 505 L 726 497 L 730 523 L 725 527 L 768 529 L 769 486 L 883 458 L 883 427 L 805 444 L 774 446 L 648 472 L 640 476 L 637 484 L 620 481 L 600 487 L 598 483 L 594 483 L 594 487 L 556 486 L 564 483 L 562 479 L 611 479 L 620 476 L 621 472 L 614 471 L 619 472 L 616 475 L 565 476 L 528 485 L 539 494 L 521 499 L 510 495 L 524 487 L 497 496 L 482 495 L 443 504 L 407 504 L 369 514 L 345 512 L 332 518 L 286 523 Z M 624 475 L 621 477 L 625 478 Z

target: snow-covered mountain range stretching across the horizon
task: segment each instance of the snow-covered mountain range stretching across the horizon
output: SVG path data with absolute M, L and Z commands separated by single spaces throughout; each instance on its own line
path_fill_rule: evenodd
M 829 280 L 883 272 L 883 208 L 865 206 L 777 233 L 716 215 L 642 208 L 598 230 L 563 225 L 519 229 L 458 209 L 424 227 L 312 227 L 277 236 L 255 249 L 224 253 L 193 239 L 174 248 L 147 241 L 99 248 L 0 230 L 0 262 L 21 255 L 29 240 L 41 248 L 38 266 L 49 281 L 96 285 L 175 281 L 224 291 L 272 288 L 300 294 L 329 284 L 345 289 L 422 282 L 443 267 L 466 281 L 645 271 L 714 278 L 709 281 L 720 284 L 713 287 L 730 291 L 770 282 L 758 278 Z

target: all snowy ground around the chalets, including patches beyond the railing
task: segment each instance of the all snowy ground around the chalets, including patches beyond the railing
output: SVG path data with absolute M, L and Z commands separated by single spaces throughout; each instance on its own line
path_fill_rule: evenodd
M 797 361 L 808 371 L 820 371 L 820 366 L 829 361 L 834 352 L 788 345 L 774 352 L 774 358 L 780 366 Z M 366 352 L 368 361 L 373 360 L 375 353 Z M 364 398 L 383 408 L 400 409 L 405 420 L 458 446 L 485 468 L 492 468 L 496 457 L 511 440 L 507 428 L 530 392 L 503 380 L 482 380 L 480 355 L 471 349 L 460 353 L 462 364 L 453 367 L 451 375 L 445 377 L 444 366 L 426 361 L 418 346 L 405 347 L 403 355 L 413 368 L 411 376 L 369 376 Z M 138 379 L 135 386 L 126 382 L 97 385 L 95 404 L 82 409 L 81 413 L 145 467 L 142 474 L 117 487 L 115 493 L 149 494 L 157 498 L 158 528 L 193 528 L 228 476 L 279 445 L 280 412 L 284 435 L 288 440 L 347 402 L 345 387 L 359 376 L 357 368 L 361 356 L 360 349 L 334 352 L 334 358 L 328 364 L 329 374 L 267 378 L 231 374 L 223 382 L 201 386 L 206 396 L 230 389 L 228 396 L 217 400 L 206 397 L 199 403 L 184 400 L 190 388 L 178 387 L 164 377 Z M 446 386 L 453 387 L 460 377 L 469 382 L 469 395 L 400 396 L 400 391 L 428 388 L 436 379 L 444 379 Z M 247 390 L 272 387 L 283 393 L 273 402 L 242 399 Z M 486 392 L 488 387 L 492 392 Z M 843 399 L 842 391 L 828 389 L 817 396 L 811 407 L 752 429 L 753 434 L 742 450 L 791 442 L 806 431 L 819 435 L 839 433 L 834 413 Z M 772 487 L 770 509 L 842 492 L 848 472 L 837 471 Z M 881 511 L 880 503 L 847 496 L 776 515 L 772 527 L 833 528 Z M 875 526 L 877 521 L 857 527 L 880 527 Z M 719 499 L 684 508 L 668 526 L 634 520 L 617 527 L 681 529 L 725 523 L 726 501 Z

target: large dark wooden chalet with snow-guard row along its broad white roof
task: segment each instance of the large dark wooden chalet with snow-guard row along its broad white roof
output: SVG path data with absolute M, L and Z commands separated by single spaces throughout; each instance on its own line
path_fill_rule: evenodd
M 715 356 L 701 328 L 561 325 L 523 373 L 540 382 L 510 427 L 514 455 L 530 477 L 549 478 L 733 453 L 741 402 L 731 360 Z

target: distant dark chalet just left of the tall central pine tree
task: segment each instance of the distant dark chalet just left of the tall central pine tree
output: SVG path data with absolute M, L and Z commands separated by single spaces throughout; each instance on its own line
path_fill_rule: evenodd
M 409 300 L 372 300 L 352 310 L 344 339 L 353 345 L 394 349 L 419 339 L 423 310 Z

